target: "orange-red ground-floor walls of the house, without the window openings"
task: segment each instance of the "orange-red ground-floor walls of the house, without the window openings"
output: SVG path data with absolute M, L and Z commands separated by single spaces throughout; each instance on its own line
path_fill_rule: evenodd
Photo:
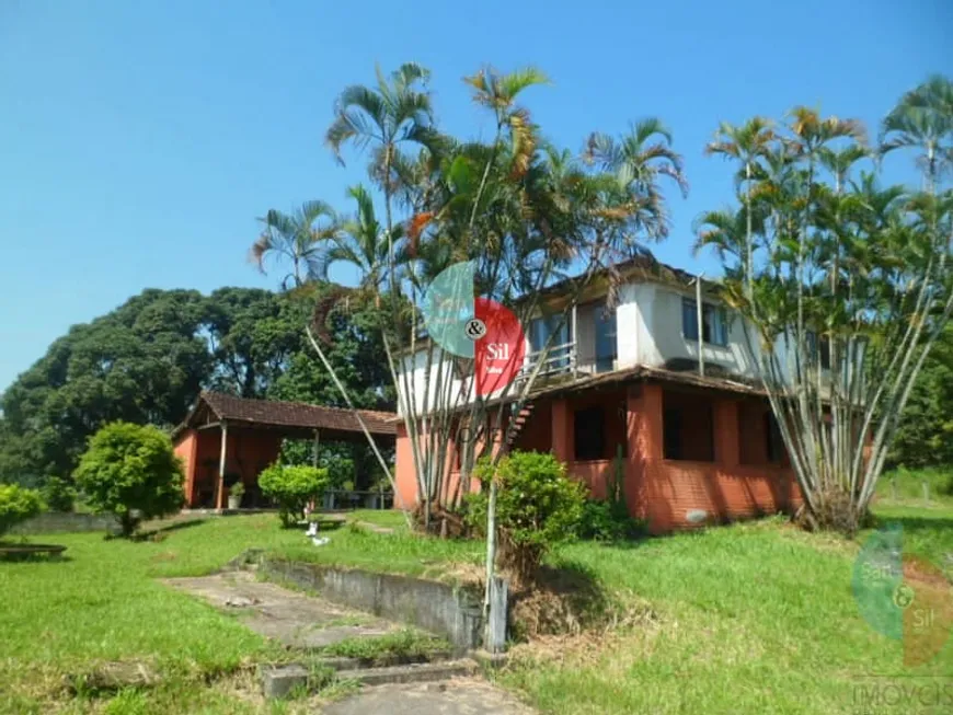
M 705 512 L 705 523 L 791 511 L 801 500 L 792 471 L 781 463 L 742 463 L 743 440 L 758 439 L 747 431 L 745 399 L 711 391 L 694 394 L 669 393 L 669 402 L 698 405 L 708 401 L 712 413 L 713 459 L 711 461 L 665 459 L 663 453 L 666 391 L 661 384 L 635 384 L 616 392 L 560 397 L 536 406 L 525 427 L 520 449 L 551 449 L 564 461 L 570 474 L 585 482 L 592 494 L 605 498 L 615 472 L 615 460 L 574 459 L 574 414 L 577 408 L 602 404 L 606 431 L 612 429 L 610 414 L 621 403 L 625 418 L 617 433 L 627 442 L 623 461 L 623 492 L 630 514 L 646 519 L 653 533 L 699 526 L 689 512 Z M 547 426 L 548 423 L 548 426 Z M 694 427 L 690 427 L 687 431 Z M 743 436 L 744 434 L 744 436 Z M 544 440 L 549 437 L 549 446 Z M 761 435 L 763 436 L 763 435 Z M 523 438 L 523 434 L 520 435 Z M 612 438 L 607 436 L 607 441 Z M 749 460 L 758 454 L 749 450 Z M 398 436 L 398 493 L 405 504 L 416 504 L 413 455 L 403 431 Z M 455 477 L 451 477 L 451 481 Z M 473 485 L 475 487 L 475 485 Z

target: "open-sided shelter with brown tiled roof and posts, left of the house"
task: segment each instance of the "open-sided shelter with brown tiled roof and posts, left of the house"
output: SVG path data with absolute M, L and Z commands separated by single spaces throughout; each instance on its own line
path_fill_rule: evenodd
M 301 402 L 250 400 L 203 392 L 188 416 L 172 433 L 175 453 L 185 463 L 188 508 L 226 505 L 228 488 L 242 482 L 242 507 L 262 506 L 259 474 L 278 458 L 284 439 L 366 443 L 361 429 L 393 447 L 397 415 L 372 410 L 342 410 Z M 358 419 L 359 415 L 359 419 Z

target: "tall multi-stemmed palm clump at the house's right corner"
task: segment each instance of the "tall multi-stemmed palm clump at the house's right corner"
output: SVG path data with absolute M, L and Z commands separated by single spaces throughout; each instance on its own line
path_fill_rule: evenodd
M 736 162 L 740 208 L 699 217 L 698 247 L 724 263 L 717 292 L 742 316 L 810 526 L 862 524 L 953 313 L 951 148 L 940 76 L 900 99 L 876 146 L 859 122 L 806 106 L 723 123 L 708 146 Z M 922 191 L 879 183 L 877 159 L 900 149 L 916 152 Z

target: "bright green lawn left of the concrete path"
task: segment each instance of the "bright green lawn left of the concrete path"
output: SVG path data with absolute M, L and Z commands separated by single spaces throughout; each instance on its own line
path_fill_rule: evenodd
M 148 662 L 164 683 L 148 694 L 120 693 L 105 712 L 260 712 L 214 681 L 254 688 L 243 668 L 272 658 L 274 649 L 233 618 L 157 578 L 207 574 L 245 546 L 292 543 L 301 533 L 263 515 L 208 519 L 164 537 L 37 535 L 30 541 L 68 546 L 67 558 L 0 562 L 0 712 L 92 712 L 103 703 L 69 699 L 62 679 L 114 660 Z

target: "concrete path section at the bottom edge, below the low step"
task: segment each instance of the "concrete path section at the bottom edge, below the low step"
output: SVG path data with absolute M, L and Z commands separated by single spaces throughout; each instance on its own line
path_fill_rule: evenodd
M 531 715 L 512 695 L 476 678 L 377 685 L 325 706 L 324 715 Z

